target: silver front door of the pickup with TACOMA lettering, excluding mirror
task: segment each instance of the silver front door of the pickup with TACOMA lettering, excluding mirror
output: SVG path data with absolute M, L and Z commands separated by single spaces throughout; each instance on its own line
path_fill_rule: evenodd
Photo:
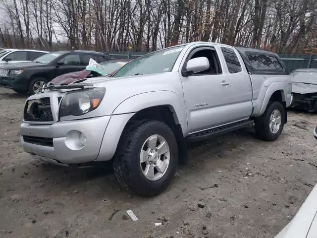
M 233 120 L 230 110 L 230 78 L 221 66 L 217 50 L 214 47 L 192 49 L 183 68 L 186 68 L 188 60 L 198 57 L 206 57 L 210 68 L 187 77 L 181 74 L 189 133 L 220 126 Z

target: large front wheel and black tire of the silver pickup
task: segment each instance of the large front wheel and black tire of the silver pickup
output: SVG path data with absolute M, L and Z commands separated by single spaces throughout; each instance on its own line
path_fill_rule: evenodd
M 153 136 L 157 136 L 156 146 L 149 146 L 149 141 L 155 141 Z M 162 139 L 167 143 L 168 152 L 159 155 L 155 148 L 159 149 Z M 153 156 L 148 157 L 153 148 Z M 143 152 L 141 152 L 143 150 Z M 161 150 L 164 152 L 165 150 Z M 168 154 L 169 153 L 169 154 Z M 142 158 L 151 158 L 146 162 L 141 162 Z M 167 158 L 169 159 L 167 161 Z M 152 161 L 152 164 L 151 163 Z M 162 166 L 164 161 L 167 168 Z M 175 136 L 172 130 L 165 123 L 156 120 L 137 121 L 130 123 L 124 129 L 114 157 L 113 168 L 119 183 L 127 190 L 141 196 L 155 196 L 161 193 L 172 180 L 178 161 L 178 150 Z M 155 163 L 155 164 L 154 164 Z M 159 167 L 159 164 L 161 167 Z M 150 167 L 151 166 L 151 167 Z M 153 176 L 150 173 L 153 169 Z M 146 177 L 147 168 L 149 168 L 148 177 Z M 157 170 L 157 168 L 160 170 Z M 160 169 L 164 168 L 164 169 Z

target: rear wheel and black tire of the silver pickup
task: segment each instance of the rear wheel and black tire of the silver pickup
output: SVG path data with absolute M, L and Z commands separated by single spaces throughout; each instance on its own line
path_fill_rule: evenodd
M 270 119 L 271 116 L 275 117 L 273 115 L 273 112 L 275 113 L 276 120 L 272 124 L 276 123 L 275 125 L 277 125 L 277 127 L 273 126 L 272 131 L 270 128 Z M 279 114 L 277 112 L 279 112 Z M 280 117 L 280 119 L 278 119 L 278 116 Z M 280 123 L 278 125 L 279 120 Z M 276 140 L 282 133 L 284 121 L 285 109 L 283 105 L 280 102 L 269 101 L 264 114 L 261 117 L 255 119 L 255 129 L 257 137 L 266 141 Z

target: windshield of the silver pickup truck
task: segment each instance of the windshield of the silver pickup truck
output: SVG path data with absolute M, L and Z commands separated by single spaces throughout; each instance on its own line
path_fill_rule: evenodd
M 183 48 L 167 48 L 142 56 L 124 65 L 112 77 L 170 72 Z

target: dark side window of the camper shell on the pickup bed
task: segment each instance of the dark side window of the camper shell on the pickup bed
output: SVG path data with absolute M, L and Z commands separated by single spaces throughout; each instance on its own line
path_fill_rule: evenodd
M 259 53 L 246 54 L 252 67 L 256 70 L 276 70 L 269 56 Z

